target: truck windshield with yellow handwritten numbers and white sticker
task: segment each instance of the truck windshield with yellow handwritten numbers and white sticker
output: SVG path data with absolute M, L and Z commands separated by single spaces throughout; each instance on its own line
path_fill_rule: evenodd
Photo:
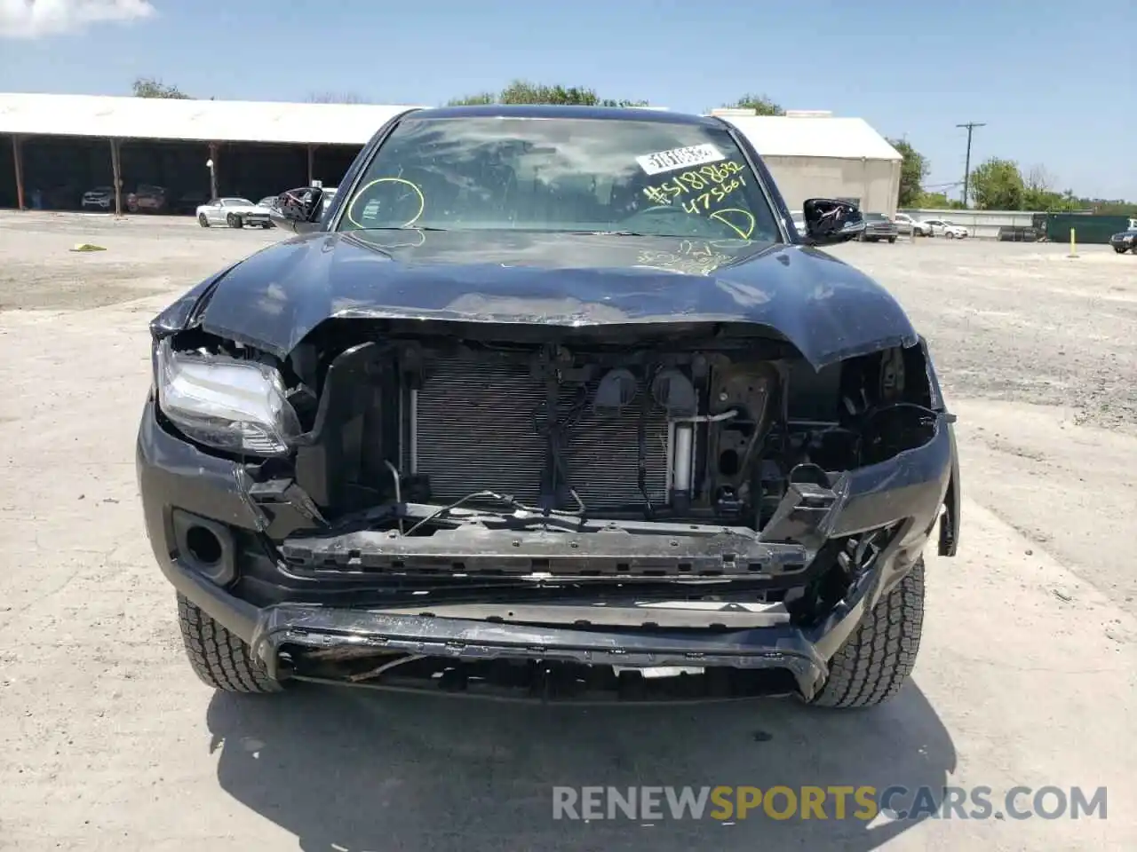
M 780 240 L 722 128 L 586 118 L 407 119 L 337 229 L 518 228 Z

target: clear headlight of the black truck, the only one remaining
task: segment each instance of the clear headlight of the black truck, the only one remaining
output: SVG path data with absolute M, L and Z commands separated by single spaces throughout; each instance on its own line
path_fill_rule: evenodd
M 155 357 L 158 406 L 186 436 L 219 450 L 282 456 L 300 434 L 279 370 L 255 361 L 174 352 Z

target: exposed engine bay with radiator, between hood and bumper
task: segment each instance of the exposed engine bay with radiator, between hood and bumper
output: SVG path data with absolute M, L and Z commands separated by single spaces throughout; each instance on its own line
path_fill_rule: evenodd
M 761 531 L 792 483 L 832 485 L 935 429 L 921 346 L 819 371 L 785 342 L 721 328 L 553 343 L 387 328 L 345 344 L 348 325 L 284 366 L 306 428 L 290 473 L 332 521 L 441 509 L 400 523 L 407 535 L 478 510 Z

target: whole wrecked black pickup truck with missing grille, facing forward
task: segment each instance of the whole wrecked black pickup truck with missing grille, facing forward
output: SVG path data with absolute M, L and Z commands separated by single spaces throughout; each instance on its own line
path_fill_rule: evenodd
M 325 209 L 326 208 L 326 209 Z M 727 120 L 408 110 L 151 323 L 138 476 L 190 663 L 547 700 L 911 673 L 960 471 L 928 346 Z

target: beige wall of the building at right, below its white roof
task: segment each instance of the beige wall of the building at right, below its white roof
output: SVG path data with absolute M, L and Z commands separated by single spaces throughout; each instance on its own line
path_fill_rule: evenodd
M 830 157 L 762 158 L 790 210 L 807 198 L 855 199 L 864 212 L 896 214 L 901 189 L 898 160 Z

